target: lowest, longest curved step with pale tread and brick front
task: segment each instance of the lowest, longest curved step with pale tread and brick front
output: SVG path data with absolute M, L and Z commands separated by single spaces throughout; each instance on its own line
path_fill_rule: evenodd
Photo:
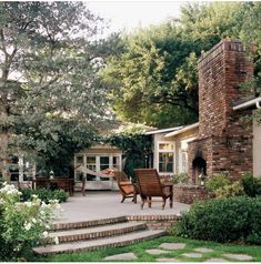
M 165 235 L 165 231 L 145 230 L 119 236 L 103 237 L 99 240 L 78 241 L 71 243 L 61 243 L 58 245 L 39 246 L 34 247 L 33 251 L 41 255 L 79 251 L 94 251 L 100 248 L 130 245 L 143 240 L 152 240 L 162 235 Z

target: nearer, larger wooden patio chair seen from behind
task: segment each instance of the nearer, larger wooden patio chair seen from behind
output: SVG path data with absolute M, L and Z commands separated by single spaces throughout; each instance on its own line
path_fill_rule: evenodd
M 167 199 L 170 199 L 170 207 L 173 206 L 173 184 L 162 183 L 155 169 L 135 169 L 137 181 L 142 200 L 141 209 L 148 202 L 151 207 L 152 197 L 162 197 L 162 210 L 165 206 Z

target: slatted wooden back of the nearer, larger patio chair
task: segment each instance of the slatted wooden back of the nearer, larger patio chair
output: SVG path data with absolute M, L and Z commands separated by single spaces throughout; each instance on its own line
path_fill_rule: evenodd
M 145 196 L 163 196 L 160 176 L 155 169 L 134 170 L 140 192 Z

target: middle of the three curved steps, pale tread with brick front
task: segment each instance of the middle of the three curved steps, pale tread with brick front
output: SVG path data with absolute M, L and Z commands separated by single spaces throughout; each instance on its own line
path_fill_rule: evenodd
M 57 231 L 51 232 L 50 237 L 59 237 L 59 242 L 72 242 L 72 241 L 82 241 L 82 240 L 97 240 L 99 237 L 121 235 L 124 233 L 130 233 L 139 230 L 145 230 L 145 223 L 130 223 L 122 222 L 111 225 L 87 227 L 87 229 L 77 229 L 68 231 Z

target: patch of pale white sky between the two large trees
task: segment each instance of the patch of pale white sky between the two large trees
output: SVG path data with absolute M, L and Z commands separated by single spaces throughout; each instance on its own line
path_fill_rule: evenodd
M 168 18 L 178 18 L 184 1 L 87 1 L 89 9 L 110 19 L 109 32 L 158 24 Z

